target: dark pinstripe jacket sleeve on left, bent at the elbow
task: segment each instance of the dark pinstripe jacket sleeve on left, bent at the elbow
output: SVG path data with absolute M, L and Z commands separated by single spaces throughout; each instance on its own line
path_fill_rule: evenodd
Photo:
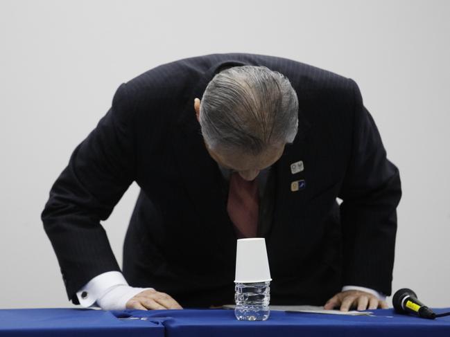
M 105 230 L 107 219 L 135 176 L 133 118 L 126 84 L 111 109 L 76 147 L 50 191 L 44 229 L 60 264 L 69 300 L 96 275 L 120 271 Z

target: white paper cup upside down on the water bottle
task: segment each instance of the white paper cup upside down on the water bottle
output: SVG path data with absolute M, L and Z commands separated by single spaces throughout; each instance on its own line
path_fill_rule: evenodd
M 263 237 L 238 239 L 235 283 L 271 281 L 266 240 Z

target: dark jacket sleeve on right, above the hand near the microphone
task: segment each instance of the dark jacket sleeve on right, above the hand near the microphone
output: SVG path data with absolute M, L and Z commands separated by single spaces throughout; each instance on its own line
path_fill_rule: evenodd
M 353 81 L 352 155 L 340 191 L 343 284 L 391 293 L 401 198 L 399 170 L 386 158 L 377 126 Z

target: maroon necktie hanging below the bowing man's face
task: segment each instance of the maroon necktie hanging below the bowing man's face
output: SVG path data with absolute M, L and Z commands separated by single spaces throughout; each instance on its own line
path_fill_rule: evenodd
M 236 235 L 256 237 L 258 228 L 258 183 L 257 179 L 246 181 L 238 172 L 230 176 L 227 211 L 233 221 Z

